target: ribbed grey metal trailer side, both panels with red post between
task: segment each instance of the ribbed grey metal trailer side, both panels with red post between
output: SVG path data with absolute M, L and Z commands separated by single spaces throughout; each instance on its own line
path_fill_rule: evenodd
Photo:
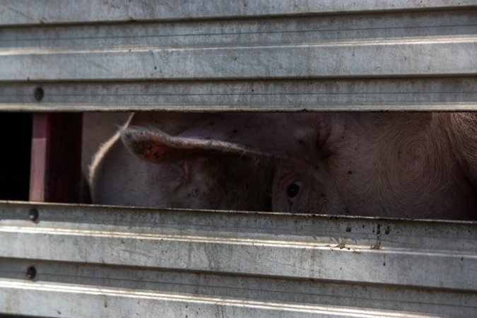
M 472 317 L 477 223 L 78 204 L 82 112 L 477 111 L 477 1 L 0 0 L 0 312 Z

